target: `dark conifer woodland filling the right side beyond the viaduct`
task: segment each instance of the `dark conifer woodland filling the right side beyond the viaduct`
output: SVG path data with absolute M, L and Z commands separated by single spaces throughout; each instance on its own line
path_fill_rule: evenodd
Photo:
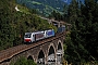
M 66 17 L 72 29 L 65 40 L 65 60 L 73 65 L 98 64 L 98 1 L 72 0 Z

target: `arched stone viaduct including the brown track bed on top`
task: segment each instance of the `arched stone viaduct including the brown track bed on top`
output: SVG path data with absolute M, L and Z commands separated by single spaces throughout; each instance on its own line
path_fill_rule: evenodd
M 44 65 L 48 65 L 49 61 L 53 61 L 54 63 L 57 63 L 57 55 L 60 54 L 61 56 L 63 56 L 64 39 L 65 32 L 32 44 L 23 44 L 22 48 L 25 46 L 25 48 L 23 49 L 19 46 L 11 48 L 10 50 L 1 51 L 0 65 L 10 65 L 11 62 L 15 62 L 21 56 L 34 60 L 36 63 L 44 63 Z M 49 57 L 49 55 L 52 55 L 52 57 Z

